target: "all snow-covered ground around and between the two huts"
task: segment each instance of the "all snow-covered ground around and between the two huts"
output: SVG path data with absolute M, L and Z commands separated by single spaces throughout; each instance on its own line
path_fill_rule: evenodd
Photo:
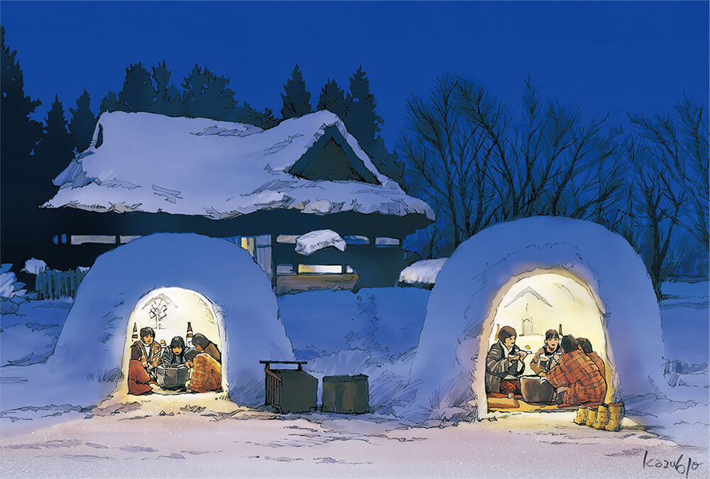
M 190 397 L 181 406 L 185 409 L 50 405 L 49 397 L 46 407 L 23 408 L 23 398 L 49 394 L 51 387 L 27 380 L 42 377 L 45 365 L 7 365 L 0 368 L 0 476 L 125 476 L 146 461 L 174 459 L 180 462 L 173 475 L 200 477 L 674 477 L 692 458 L 701 465 L 687 477 L 707 477 L 707 291 L 707 282 L 665 285 L 670 295 L 661 307 L 665 358 L 679 363 L 673 363 L 655 393 L 627 404 L 629 415 L 645 424 L 643 429 L 594 431 L 572 424 L 571 413 L 499 414 L 494 421 L 458 425 L 409 424 L 385 407 L 355 418 L 278 417 L 227 402 L 208 409 L 190 407 Z M 406 395 L 403 385 L 429 294 L 415 288 L 305 292 L 280 297 L 279 309 L 295 356 L 308 361 L 306 370 L 318 378 L 364 373 L 371 402 L 391 404 Z M 70 305 L 25 301 L 15 307 L 4 302 L 3 364 L 43 360 L 53 350 L 53 335 Z M 648 464 L 677 461 L 681 455 L 674 470 L 643 466 L 644 457 Z

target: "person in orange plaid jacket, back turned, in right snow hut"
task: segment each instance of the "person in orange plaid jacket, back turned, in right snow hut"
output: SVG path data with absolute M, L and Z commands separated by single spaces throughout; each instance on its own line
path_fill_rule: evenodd
M 547 381 L 557 390 L 557 404 L 601 404 L 606 395 L 606 381 L 597 365 L 579 350 L 577 340 L 571 334 L 562 338 L 562 351 L 559 363 L 546 375 Z

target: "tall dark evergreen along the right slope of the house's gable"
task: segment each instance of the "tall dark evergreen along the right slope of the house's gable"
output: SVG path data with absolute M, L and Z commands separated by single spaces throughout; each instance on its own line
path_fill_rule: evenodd
M 346 97 L 345 126 L 383 175 L 405 188 L 404 165 L 396 153 L 388 153 L 385 141 L 377 133 L 384 120 L 375 113 L 377 101 L 370 92 L 370 80 L 362 65 L 350 77 L 350 92 Z

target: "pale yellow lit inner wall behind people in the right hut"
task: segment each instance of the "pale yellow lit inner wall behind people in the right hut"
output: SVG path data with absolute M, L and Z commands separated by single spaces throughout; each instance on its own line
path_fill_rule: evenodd
M 515 282 L 503 295 L 493 316 L 493 327 L 488 347 L 497 341 L 496 334 L 503 326 L 512 326 L 518 333 L 515 344 L 530 355 L 525 358 L 525 374 L 535 374 L 530 360 L 545 342 L 549 329 L 562 335 L 589 339 L 591 346 L 606 364 L 607 398 L 611 397 L 612 368 L 606 351 L 603 315 L 586 285 L 578 280 L 552 272 L 524 277 Z

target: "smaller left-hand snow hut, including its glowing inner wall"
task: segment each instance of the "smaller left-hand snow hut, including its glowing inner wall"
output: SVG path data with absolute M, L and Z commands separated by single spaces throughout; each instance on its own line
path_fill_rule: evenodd
M 95 396 L 87 401 L 125 394 L 133 325 L 151 326 L 169 346 L 174 336 L 185 338 L 188 321 L 220 349 L 230 399 L 263 404 L 259 360 L 293 359 L 275 294 L 249 253 L 196 234 L 156 233 L 99 256 L 48 368 L 67 387 Z

